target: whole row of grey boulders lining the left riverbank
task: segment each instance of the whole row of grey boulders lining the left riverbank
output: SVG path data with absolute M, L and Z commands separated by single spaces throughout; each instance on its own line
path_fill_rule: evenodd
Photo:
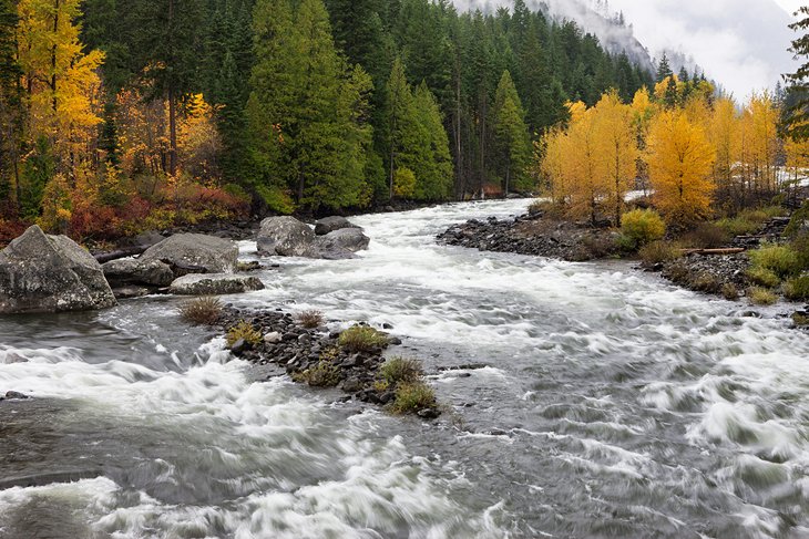
M 238 265 L 238 246 L 225 239 L 254 232 L 247 221 L 223 225 L 214 236 L 165 237 L 150 231 L 93 257 L 70 238 L 32 226 L 0 251 L 0 313 L 104 309 L 117 299 L 156 292 L 213 296 L 260 290 L 260 279 L 238 273 L 244 269 Z M 369 241 L 342 217 L 321 219 L 314 229 L 293 217 L 272 217 L 262 221 L 257 237 L 262 255 L 326 259 L 352 258 Z

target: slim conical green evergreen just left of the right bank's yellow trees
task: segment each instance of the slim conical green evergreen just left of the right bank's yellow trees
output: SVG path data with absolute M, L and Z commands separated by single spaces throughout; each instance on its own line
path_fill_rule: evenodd
M 512 187 L 530 188 L 526 174 L 531 160 L 531 138 L 525 125 L 525 113 L 511 74 L 503 72 L 494 97 L 494 151 L 503 193 Z

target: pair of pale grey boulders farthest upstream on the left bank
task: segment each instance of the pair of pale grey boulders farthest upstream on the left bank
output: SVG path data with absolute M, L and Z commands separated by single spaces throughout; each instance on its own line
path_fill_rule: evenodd
M 369 243 L 362 229 L 344 217 L 320 219 L 314 230 L 295 217 L 268 217 L 256 237 L 259 255 L 328 260 L 354 258 Z

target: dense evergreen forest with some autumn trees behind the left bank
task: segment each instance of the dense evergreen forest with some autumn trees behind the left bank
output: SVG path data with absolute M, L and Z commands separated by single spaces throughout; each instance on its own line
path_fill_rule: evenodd
M 653 82 L 522 0 L 1 0 L 0 219 L 103 237 L 530 189 L 565 103 Z

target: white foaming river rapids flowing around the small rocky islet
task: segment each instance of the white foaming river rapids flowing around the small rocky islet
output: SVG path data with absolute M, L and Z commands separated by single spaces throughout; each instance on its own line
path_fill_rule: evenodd
M 0 392 L 34 397 L 0 402 L 0 537 L 809 537 L 806 333 L 624 262 L 434 243 L 525 204 L 359 217 L 361 258 L 227 298 L 392 324 L 436 423 L 255 383 L 172 298 L 0 319 Z

